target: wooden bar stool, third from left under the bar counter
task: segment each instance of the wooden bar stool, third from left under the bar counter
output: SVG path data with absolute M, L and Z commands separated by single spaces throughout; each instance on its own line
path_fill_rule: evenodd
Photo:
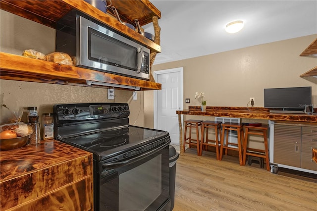
M 235 150 L 239 152 L 239 163 L 243 165 L 243 143 L 244 143 L 244 132 L 243 132 L 243 124 L 241 123 L 230 123 L 225 122 L 222 123 L 222 135 L 221 135 L 221 142 L 220 142 L 220 155 L 219 160 L 222 159 L 223 155 L 223 148 L 225 149 L 225 155 L 228 153 L 228 149 Z M 237 131 L 238 134 L 238 143 L 229 142 L 229 132 L 230 131 Z M 226 138 L 224 143 L 224 133 L 226 132 Z

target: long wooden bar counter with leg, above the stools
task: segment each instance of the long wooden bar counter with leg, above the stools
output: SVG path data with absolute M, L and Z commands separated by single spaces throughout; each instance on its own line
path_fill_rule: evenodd
M 232 118 L 267 119 L 292 122 L 317 122 L 317 114 L 292 114 L 292 113 L 270 113 L 269 108 L 264 107 L 222 107 L 207 106 L 206 111 L 201 106 L 189 106 L 189 109 L 176 110 L 179 123 L 179 147 L 180 155 L 183 155 L 183 128 L 181 115 L 203 115 L 221 116 Z

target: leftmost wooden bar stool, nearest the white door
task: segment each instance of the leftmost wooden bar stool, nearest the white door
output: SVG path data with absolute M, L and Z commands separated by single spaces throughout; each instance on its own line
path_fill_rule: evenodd
M 185 132 L 184 132 L 184 152 L 185 152 L 185 145 L 188 144 L 189 148 L 192 145 L 197 146 L 197 155 L 199 155 L 199 127 L 202 126 L 203 120 L 196 120 L 196 119 L 189 119 L 185 120 Z M 189 128 L 189 136 L 187 136 L 187 128 Z M 196 128 L 196 139 L 192 139 L 192 128 Z M 188 142 L 186 142 L 188 140 Z M 194 142 L 193 142 L 194 141 Z

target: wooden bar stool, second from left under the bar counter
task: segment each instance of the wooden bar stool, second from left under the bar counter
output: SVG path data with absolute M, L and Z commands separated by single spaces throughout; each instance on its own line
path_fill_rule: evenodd
M 205 130 L 206 129 L 206 130 Z M 209 139 L 209 129 L 214 130 L 215 139 Z M 204 139 L 204 133 L 206 131 L 206 139 Z M 216 148 L 216 158 L 219 159 L 219 140 L 218 135 L 221 135 L 221 122 L 217 121 L 203 121 L 202 122 L 202 138 L 199 149 L 199 156 L 202 156 L 203 150 L 206 151 L 206 146 L 211 146 Z

